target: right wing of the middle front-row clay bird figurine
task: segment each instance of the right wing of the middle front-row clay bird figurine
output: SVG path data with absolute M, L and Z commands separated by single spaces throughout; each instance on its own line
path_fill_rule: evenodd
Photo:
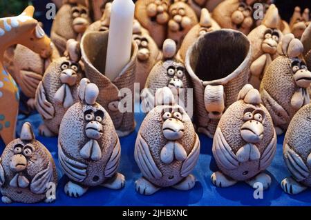
M 182 163 L 182 168 L 180 170 L 180 175 L 182 177 L 187 177 L 190 174 L 190 172 L 194 170 L 199 155 L 200 155 L 200 139 L 198 138 L 198 134 L 196 134 L 196 141 L 194 143 L 194 148 L 192 148 L 187 159 L 185 159 L 184 163 Z

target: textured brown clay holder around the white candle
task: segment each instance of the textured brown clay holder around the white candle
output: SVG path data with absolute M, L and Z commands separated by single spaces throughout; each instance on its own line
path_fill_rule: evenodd
M 86 77 L 100 89 L 97 101 L 109 112 L 117 134 L 119 137 L 122 137 L 132 132 L 135 128 L 133 96 L 138 46 L 133 41 L 131 60 L 124 66 L 119 76 L 110 81 L 104 75 L 108 34 L 108 31 L 88 32 L 82 37 L 80 46 Z M 123 94 L 119 94 L 122 89 L 128 92 L 131 91 L 131 94 L 127 94 L 126 97 L 126 99 L 130 99 L 129 101 L 132 102 L 130 112 L 122 112 L 118 107 L 119 103 L 120 105 L 122 104 L 121 101 L 124 98 Z

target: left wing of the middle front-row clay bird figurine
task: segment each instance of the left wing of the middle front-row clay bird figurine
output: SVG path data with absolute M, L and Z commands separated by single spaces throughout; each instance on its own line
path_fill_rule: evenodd
M 134 157 L 144 177 L 150 179 L 159 179 L 162 177 L 162 173 L 157 168 L 156 163 L 153 161 L 148 143 L 140 134 L 138 134 L 135 143 Z

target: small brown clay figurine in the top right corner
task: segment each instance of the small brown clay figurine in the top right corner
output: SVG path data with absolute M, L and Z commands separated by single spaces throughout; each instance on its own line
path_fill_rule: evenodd
M 301 35 L 310 23 L 310 10 L 305 8 L 301 13 L 301 9 L 297 6 L 290 18 L 290 30 L 294 37 L 301 39 Z

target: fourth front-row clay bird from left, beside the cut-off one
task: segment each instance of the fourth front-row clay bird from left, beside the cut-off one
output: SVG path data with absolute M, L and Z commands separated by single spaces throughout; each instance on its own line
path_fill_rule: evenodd
M 217 187 L 237 181 L 263 184 L 267 189 L 271 177 L 265 170 L 276 151 L 276 132 L 269 112 L 261 103 L 258 90 L 245 85 L 221 117 L 213 141 L 213 155 L 220 171 L 211 174 Z

